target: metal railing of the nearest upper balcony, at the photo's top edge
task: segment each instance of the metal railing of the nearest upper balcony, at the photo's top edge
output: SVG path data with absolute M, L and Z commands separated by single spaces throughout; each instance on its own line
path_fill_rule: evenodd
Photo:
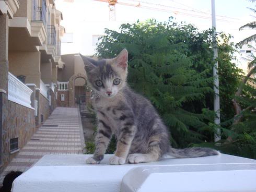
M 43 21 L 44 27 L 46 28 L 46 3 L 45 0 L 42 0 L 42 7 L 38 6 L 39 0 L 33 0 L 32 3 L 32 11 L 34 21 Z

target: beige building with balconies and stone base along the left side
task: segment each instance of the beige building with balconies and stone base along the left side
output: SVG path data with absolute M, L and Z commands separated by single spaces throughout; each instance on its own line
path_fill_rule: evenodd
M 0 172 L 56 107 L 62 19 L 54 0 L 0 1 Z

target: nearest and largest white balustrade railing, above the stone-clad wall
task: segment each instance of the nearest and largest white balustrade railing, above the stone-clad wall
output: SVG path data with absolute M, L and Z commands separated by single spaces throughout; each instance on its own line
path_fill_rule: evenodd
M 32 90 L 17 79 L 13 74 L 8 75 L 8 100 L 34 109 L 31 106 Z

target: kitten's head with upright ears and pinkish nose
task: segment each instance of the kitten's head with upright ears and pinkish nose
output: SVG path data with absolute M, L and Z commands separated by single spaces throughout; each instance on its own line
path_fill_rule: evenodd
M 100 61 L 80 56 L 85 64 L 87 81 L 95 92 L 105 98 L 112 98 L 125 86 L 128 61 L 126 49 L 115 58 Z

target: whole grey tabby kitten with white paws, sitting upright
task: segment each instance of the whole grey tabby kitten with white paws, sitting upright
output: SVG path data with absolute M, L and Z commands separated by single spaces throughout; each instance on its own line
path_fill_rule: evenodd
M 111 136 L 117 137 L 113 165 L 159 160 L 164 154 L 176 158 L 218 155 L 210 148 L 174 149 L 167 127 L 153 105 L 126 85 L 128 52 L 124 49 L 113 59 L 95 61 L 81 55 L 87 81 L 95 92 L 94 107 L 98 117 L 96 150 L 87 159 L 98 164 L 104 157 Z

